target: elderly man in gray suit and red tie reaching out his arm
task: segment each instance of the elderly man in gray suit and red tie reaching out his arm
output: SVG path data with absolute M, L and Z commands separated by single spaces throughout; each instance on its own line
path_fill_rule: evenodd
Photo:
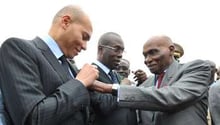
M 146 83 L 154 86 L 96 87 L 102 87 L 102 92 L 118 92 L 120 107 L 153 111 L 154 125 L 207 125 L 210 65 L 203 60 L 179 64 L 174 59 L 174 50 L 167 36 L 154 36 L 144 44 L 145 64 L 155 74 Z

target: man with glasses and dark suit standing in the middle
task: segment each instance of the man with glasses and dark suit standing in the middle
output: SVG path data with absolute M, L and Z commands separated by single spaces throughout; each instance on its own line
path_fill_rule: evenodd
M 119 84 L 120 79 L 114 71 L 120 63 L 124 43 L 120 35 L 114 32 L 103 34 L 98 42 L 97 65 L 99 81 Z M 110 73 L 113 73 L 111 76 Z M 118 108 L 117 97 L 111 94 L 94 92 L 92 96 L 92 108 L 95 113 L 95 125 L 136 125 L 136 112 L 128 108 Z

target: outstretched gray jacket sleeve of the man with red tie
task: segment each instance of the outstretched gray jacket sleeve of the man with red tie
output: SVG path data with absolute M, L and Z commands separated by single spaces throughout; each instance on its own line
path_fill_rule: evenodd
M 153 111 L 182 109 L 195 104 L 207 93 L 210 73 L 209 64 L 196 60 L 179 69 L 163 88 L 121 86 L 119 105 Z

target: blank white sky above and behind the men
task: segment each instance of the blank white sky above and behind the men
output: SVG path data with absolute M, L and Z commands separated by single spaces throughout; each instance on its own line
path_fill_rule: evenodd
M 77 65 L 96 60 L 97 41 L 105 32 L 116 32 L 125 43 L 124 58 L 131 70 L 144 65 L 143 44 L 155 35 L 167 35 L 184 48 L 181 62 L 217 57 L 220 41 L 218 0 L 1 0 L 0 44 L 9 37 L 33 39 L 47 34 L 54 14 L 75 4 L 90 16 L 93 34 Z

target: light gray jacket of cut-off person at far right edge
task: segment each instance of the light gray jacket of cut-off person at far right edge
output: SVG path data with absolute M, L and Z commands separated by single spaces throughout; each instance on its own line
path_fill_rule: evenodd
M 220 125 L 220 81 L 209 89 L 209 111 L 213 125 Z

